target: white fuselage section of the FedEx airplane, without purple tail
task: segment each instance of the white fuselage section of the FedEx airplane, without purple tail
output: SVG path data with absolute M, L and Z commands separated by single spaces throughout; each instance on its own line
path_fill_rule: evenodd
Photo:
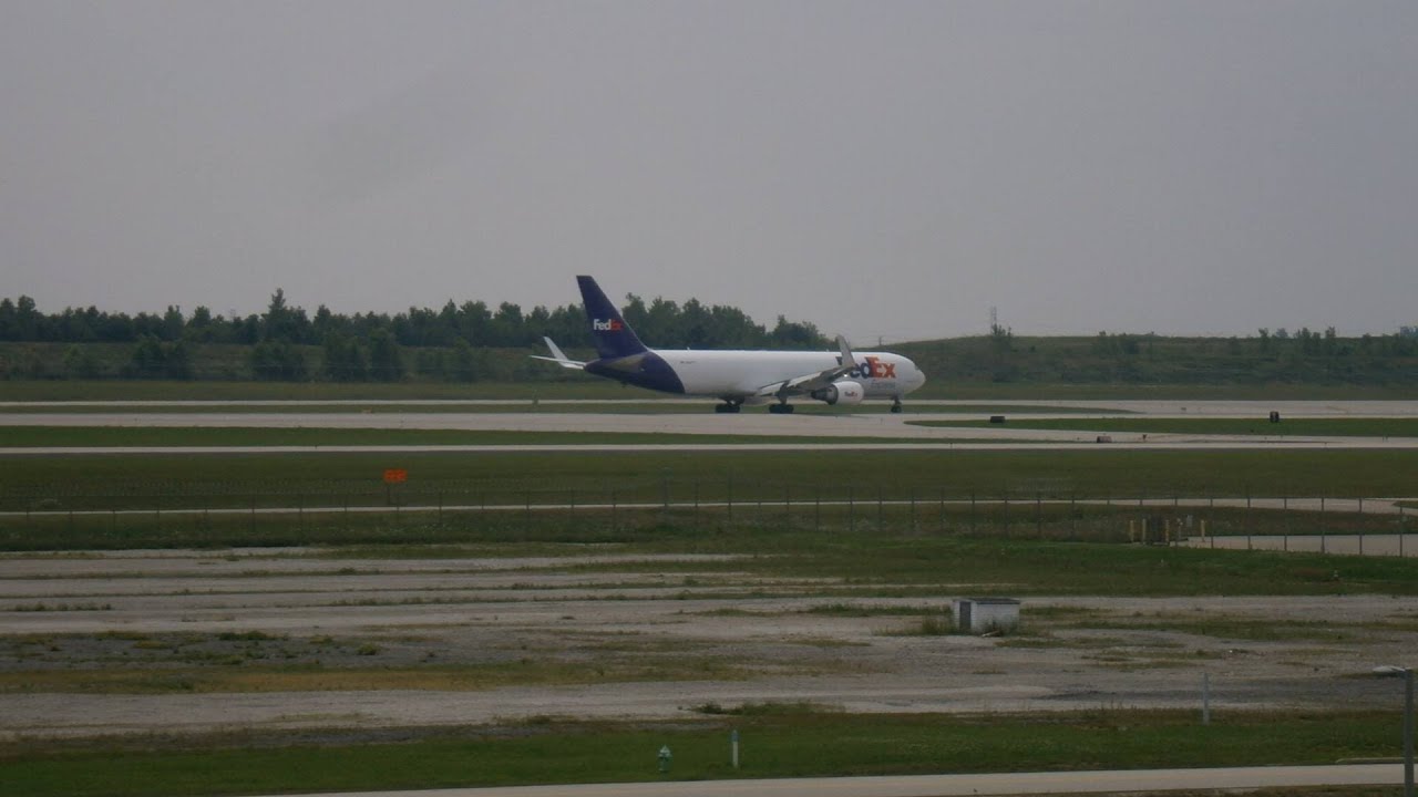
M 835 352 L 754 352 L 705 349 L 654 349 L 679 376 L 685 394 L 757 396 L 764 386 L 835 367 Z M 926 376 L 900 355 L 854 352 L 858 370 L 841 380 L 862 386 L 868 398 L 899 398 L 926 383 Z

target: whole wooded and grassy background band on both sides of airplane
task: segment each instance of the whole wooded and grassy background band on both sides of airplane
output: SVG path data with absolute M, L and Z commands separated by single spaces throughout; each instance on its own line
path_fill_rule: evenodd
M 661 347 L 831 349 L 811 323 L 778 316 L 771 329 L 732 306 L 696 299 L 645 302 L 628 295 L 625 319 Z M 308 313 L 277 289 L 264 313 L 224 318 L 207 308 L 184 313 L 109 313 L 65 308 L 44 313 L 28 296 L 0 299 L 0 379 L 199 379 L 326 381 L 526 381 L 566 379 L 496 349 L 591 347 L 580 305 L 523 312 L 503 302 L 447 302 L 441 309 L 339 315 Z M 988 336 L 895 346 L 943 381 L 1255 383 L 1316 381 L 1418 384 L 1418 328 L 1340 338 L 1334 328 L 1258 329 L 1246 338 Z

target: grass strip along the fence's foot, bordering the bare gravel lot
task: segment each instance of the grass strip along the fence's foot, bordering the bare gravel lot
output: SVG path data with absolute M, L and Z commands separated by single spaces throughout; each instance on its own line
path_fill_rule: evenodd
M 615 563 L 614 572 L 753 573 L 773 579 L 832 579 L 831 597 L 915 597 L 940 584 L 977 584 L 983 594 L 1418 594 L 1418 560 L 1204 547 L 1123 545 L 1129 523 L 1159 509 L 1028 502 L 957 505 L 944 513 L 922 503 L 854 509 L 811 505 L 736 505 L 676 509 L 577 509 L 559 512 L 403 512 L 284 515 L 64 515 L 7 518 L 0 550 L 329 546 L 335 557 L 527 556 L 567 550 L 623 554 L 725 554 L 722 563 Z M 1188 511 L 1214 533 L 1414 532 L 1394 516 Z M 1418 546 L 1418 536 L 1412 542 Z M 353 546 L 353 547 L 350 547 Z M 406 547 L 418 546 L 418 547 Z M 432 546 L 432 547 L 427 547 Z M 569 547 L 570 546 L 570 547 Z M 583 566 L 593 572 L 597 566 Z M 790 590 L 793 594 L 795 590 Z M 740 593 L 735 593 L 740 594 Z M 756 593 L 761 597 L 761 593 Z M 14 606 L 21 606 L 23 601 Z

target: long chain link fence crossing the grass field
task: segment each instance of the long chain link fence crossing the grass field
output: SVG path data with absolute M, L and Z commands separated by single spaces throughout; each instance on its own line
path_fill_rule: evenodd
M 0 542 L 34 549 L 605 539 L 747 525 L 1395 556 L 1418 549 L 1405 540 L 1412 509 L 1395 499 L 1081 496 L 1051 488 L 981 492 L 669 472 L 574 484 L 520 475 L 413 484 L 164 481 L 102 492 L 74 484 L 43 494 L 0 491 Z

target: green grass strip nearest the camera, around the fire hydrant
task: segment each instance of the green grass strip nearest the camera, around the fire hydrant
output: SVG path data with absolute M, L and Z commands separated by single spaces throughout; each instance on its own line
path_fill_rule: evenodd
M 710 710 L 715 706 L 709 706 Z M 737 709 L 737 706 L 730 706 Z M 567 723 L 418 733 L 394 743 L 299 735 L 88 742 L 28 740 L 0 753 L 27 797 L 169 797 L 654 783 L 970 771 L 1326 764 L 1400 753 L 1392 713 L 1218 715 L 1096 710 L 1048 716 L 848 715 L 746 706 L 693 725 Z M 729 763 L 740 733 L 742 769 Z M 659 774 L 657 752 L 672 763 Z

